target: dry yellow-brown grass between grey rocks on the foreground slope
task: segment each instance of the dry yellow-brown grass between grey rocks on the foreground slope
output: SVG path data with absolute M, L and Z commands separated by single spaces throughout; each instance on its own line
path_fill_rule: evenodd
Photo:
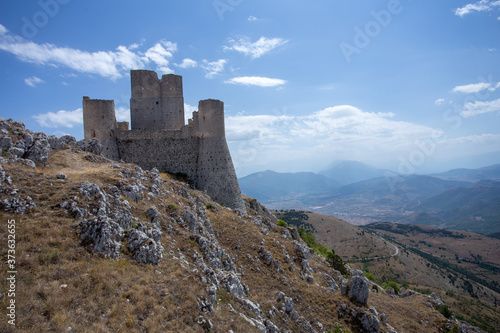
M 163 260 L 156 266 L 138 264 L 127 248 L 120 259 L 110 260 L 84 247 L 79 239 L 78 222 L 59 206 L 68 199 L 79 198 L 81 182 L 91 181 L 105 188 L 117 185 L 123 178 L 111 163 L 92 163 L 87 153 L 74 148 L 53 152 L 46 167 L 30 169 L 3 165 L 23 196 L 31 196 L 36 207 L 24 215 L 1 212 L 0 244 L 7 243 L 7 220 L 16 220 L 16 315 L 17 327 L 7 323 L 7 297 L 0 299 L 0 332 L 208 332 L 210 321 L 215 332 L 260 332 L 247 318 L 255 318 L 241 300 L 220 288 L 216 294 L 215 313 L 200 309 L 200 298 L 207 298 L 207 287 L 196 269 L 195 252 L 201 252 L 193 234 L 168 219 L 160 221 L 165 246 Z M 121 164 L 122 167 L 133 168 Z M 56 179 L 64 172 L 66 180 Z M 135 217 L 145 220 L 152 205 L 164 207 L 169 216 L 173 205 L 181 211 L 189 200 L 176 194 L 184 183 L 161 174 L 168 195 L 130 201 Z M 323 258 L 310 260 L 314 282 L 301 278 L 300 264 L 289 270 L 285 253 L 296 256 L 293 240 L 283 236 L 285 228 L 262 232 L 248 217 L 211 201 L 205 194 L 190 190 L 210 204 L 208 217 L 222 248 L 229 251 L 249 287 L 248 299 L 260 304 L 261 313 L 281 331 L 304 332 L 304 322 L 280 311 L 276 301 L 279 292 L 291 297 L 296 310 L 318 332 L 333 331 L 340 323 L 352 332 L 359 331 L 352 315 L 341 315 L 346 305 L 352 313 L 362 313 L 374 306 L 387 315 L 387 321 L 398 332 L 439 332 L 446 319 L 427 304 L 428 299 L 415 295 L 393 299 L 385 294 L 370 293 L 367 306 L 350 303 L 340 291 L 333 291 L 322 278 L 333 275 Z M 125 198 L 123 198 L 125 199 Z M 250 211 L 256 215 L 255 211 Z M 169 233 L 168 230 L 171 230 Z M 332 230 L 332 233 L 336 233 Z M 264 246 L 281 263 L 282 271 L 266 265 L 258 250 Z M 333 244 L 334 248 L 337 248 Z M 0 258 L 6 261 L 6 247 L 0 247 Z M 6 268 L 0 273 L 0 290 L 5 291 Z M 277 310 L 277 311 L 274 311 Z M 269 313 L 273 312 L 271 316 Z M 317 323 L 322 323 L 320 328 Z M 306 325 L 307 326 L 307 325 Z M 382 330 L 388 330 L 382 325 Z

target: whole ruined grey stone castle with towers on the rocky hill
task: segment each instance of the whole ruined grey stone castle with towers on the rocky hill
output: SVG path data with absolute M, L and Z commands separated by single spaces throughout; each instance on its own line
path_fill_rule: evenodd
M 154 71 L 132 70 L 130 78 L 131 129 L 128 122 L 116 122 L 113 100 L 85 96 L 85 138 L 98 139 L 107 158 L 184 174 L 215 201 L 246 212 L 226 142 L 224 103 L 200 101 L 185 125 L 182 76 L 160 80 Z

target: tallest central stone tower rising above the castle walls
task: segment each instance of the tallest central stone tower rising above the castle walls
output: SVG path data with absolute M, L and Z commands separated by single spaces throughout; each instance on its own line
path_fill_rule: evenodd
M 130 71 L 132 130 L 174 130 L 184 126 L 182 76 L 154 71 Z

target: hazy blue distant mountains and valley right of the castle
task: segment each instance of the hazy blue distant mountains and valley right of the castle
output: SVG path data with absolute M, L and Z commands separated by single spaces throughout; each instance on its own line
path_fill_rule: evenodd
M 418 221 L 490 234 L 500 232 L 499 180 L 500 164 L 400 176 L 342 161 L 318 174 L 255 173 L 241 178 L 240 186 L 273 209 L 306 209 L 357 225 Z

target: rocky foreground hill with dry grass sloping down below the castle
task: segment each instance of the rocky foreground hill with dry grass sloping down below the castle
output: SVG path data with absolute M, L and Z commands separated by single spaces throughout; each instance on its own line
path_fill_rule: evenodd
M 1 332 L 480 332 L 436 295 L 342 275 L 255 199 L 234 211 L 12 120 L 0 149 Z

